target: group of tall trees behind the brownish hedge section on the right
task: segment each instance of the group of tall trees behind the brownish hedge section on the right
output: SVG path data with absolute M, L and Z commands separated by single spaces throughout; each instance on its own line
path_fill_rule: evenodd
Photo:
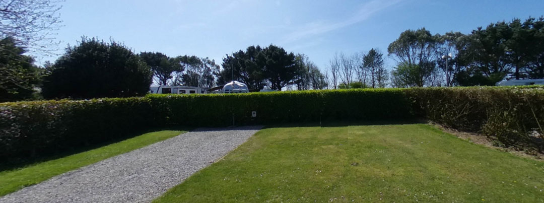
M 494 85 L 544 78 L 544 18 L 491 23 L 469 34 L 406 30 L 387 48 L 393 87 Z

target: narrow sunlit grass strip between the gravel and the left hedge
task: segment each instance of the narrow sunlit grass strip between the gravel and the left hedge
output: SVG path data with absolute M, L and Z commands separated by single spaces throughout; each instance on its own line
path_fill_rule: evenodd
M 141 136 L 98 147 L 93 150 L 76 153 L 74 155 L 30 164 L 22 168 L 0 171 L 0 196 L 45 181 L 53 176 L 66 173 L 67 171 L 175 137 L 184 132 L 186 131 L 158 131 L 145 133 Z

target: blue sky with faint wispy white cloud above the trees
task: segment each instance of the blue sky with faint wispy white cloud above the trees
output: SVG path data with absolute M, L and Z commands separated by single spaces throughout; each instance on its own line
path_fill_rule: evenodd
M 387 46 L 406 29 L 471 30 L 514 17 L 544 15 L 544 1 L 183 1 L 95 0 L 63 3 L 59 53 L 82 35 L 124 42 L 135 52 L 215 59 L 250 45 L 304 53 L 321 69 L 335 52 Z M 41 60 L 54 61 L 57 57 Z M 388 58 L 387 66 L 394 60 Z

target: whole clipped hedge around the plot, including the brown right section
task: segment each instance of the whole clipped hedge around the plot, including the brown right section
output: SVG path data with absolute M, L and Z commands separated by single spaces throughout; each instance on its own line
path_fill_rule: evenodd
M 542 150 L 544 89 L 409 88 L 149 95 L 0 103 L 0 158 L 60 152 L 154 127 L 426 118 Z M 252 118 L 251 112 L 257 117 Z M 533 136 L 530 136 L 533 135 Z

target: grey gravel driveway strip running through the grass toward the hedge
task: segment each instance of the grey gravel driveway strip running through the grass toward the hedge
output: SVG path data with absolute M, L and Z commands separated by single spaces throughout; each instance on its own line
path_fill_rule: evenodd
M 199 128 L 8 194 L 0 202 L 149 202 L 262 126 Z

